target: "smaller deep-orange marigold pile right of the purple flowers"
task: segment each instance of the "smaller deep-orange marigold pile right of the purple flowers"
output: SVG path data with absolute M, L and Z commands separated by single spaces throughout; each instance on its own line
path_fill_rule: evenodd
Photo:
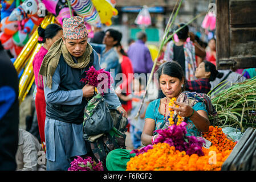
M 212 145 L 216 146 L 219 151 L 232 150 L 236 144 L 229 140 L 218 126 L 210 126 L 209 131 L 203 133 L 203 137 L 212 142 Z

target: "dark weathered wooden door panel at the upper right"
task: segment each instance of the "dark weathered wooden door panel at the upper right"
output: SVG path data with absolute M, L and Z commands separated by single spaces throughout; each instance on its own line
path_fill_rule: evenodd
M 256 0 L 216 0 L 217 69 L 256 68 Z

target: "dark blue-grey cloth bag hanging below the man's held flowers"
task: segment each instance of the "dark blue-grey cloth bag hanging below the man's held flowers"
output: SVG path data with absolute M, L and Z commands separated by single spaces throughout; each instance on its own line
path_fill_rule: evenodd
M 94 96 L 84 110 L 83 134 L 88 136 L 107 133 L 113 127 L 113 119 L 101 94 Z

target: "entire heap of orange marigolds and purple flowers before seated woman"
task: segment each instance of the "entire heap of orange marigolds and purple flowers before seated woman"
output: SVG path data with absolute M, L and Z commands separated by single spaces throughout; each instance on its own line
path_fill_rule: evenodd
M 185 126 L 182 122 L 157 130 L 160 135 L 155 144 L 131 152 L 136 156 L 127 163 L 127 171 L 220 171 L 235 142 L 227 139 L 220 128 L 210 126 L 204 137 L 212 146 L 205 148 L 200 138 L 185 136 Z

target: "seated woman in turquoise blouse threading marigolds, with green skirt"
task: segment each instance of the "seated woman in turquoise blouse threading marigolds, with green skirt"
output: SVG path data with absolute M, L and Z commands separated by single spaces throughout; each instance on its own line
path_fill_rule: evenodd
M 165 129 L 170 125 L 168 107 L 175 110 L 180 117 L 184 117 L 183 121 L 187 123 L 186 135 L 200 137 L 202 132 L 207 132 L 210 125 L 208 114 L 217 114 L 210 98 L 206 94 L 184 92 L 185 76 L 181 66 L 174 61 L 162 64 L 157 73 L 159 74 L 160 89 L 166 97 L 152 101 L 147 107 L 145 125 L 141 135 L 143 144 L 145 146 L 152 144 L 158 137 L 154 131 Z M 177 102 L 174 101 L 174 104 L 180 107 L 169 106 L 173 97 L 177 98 Z M 178 119 L 175 115 L 172 118 L 177 122 Z M 126 163 L 135 156 L 129 152 L 124 149 L 109 152 L 106 163 L 108 170 L 125 170 Z

